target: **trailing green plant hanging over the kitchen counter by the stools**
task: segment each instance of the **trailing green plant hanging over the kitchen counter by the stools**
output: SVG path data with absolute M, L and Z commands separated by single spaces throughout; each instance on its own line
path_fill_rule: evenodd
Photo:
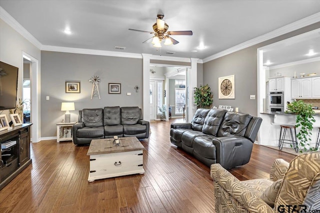
M 302 100 L 293 101 L 287 105 L 286 112 L 296 115 L 295 127 L 300 127 L 300 131 L 296 134 L 296 138 L 299 140 L 298 148 L 300 153 L 302 151 L 315 151 L 314 147 L 310 147 L 309 141 L 311 141 L 312 124 L 315 122 L 313 115 L 314 111 L 310 104 L 304 103 Z M 292 147 L 292 145 L 290 145 Z M 309 147 L 307 149 L 307 146 Z

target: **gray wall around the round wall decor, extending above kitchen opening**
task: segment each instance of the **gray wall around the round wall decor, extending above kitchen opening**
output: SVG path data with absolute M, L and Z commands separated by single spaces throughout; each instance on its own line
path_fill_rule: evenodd
M 320 22 L 317 22 L 204 63 L 203 84 L 208 84 L 211 87 L 213 106 L 230 105 L 232 108 L 238 107 L 240 112 L 256 116 L 257 99 L 249 99 L 249 95 L 257 97 L 256 49 L 319 27 Z M 235 99 L 218 99 L 218 78 L 233 74 Z

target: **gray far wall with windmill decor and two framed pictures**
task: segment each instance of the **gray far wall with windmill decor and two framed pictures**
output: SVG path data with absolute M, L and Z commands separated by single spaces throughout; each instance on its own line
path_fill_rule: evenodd
M 64 118 L 61 102 L 74 102 L 71 121 L 76 121 L 77 111 L 83 108 L 142 108 L 142 89 L 134 89 L 135 85 L 142 88 L 142 59 L 41 51 L 41 60 L 41 137 L 56 136 L 56 123 Z M 100 100 L 90 100 L 92 75 L 100 77 Z M 66 80 L 80 81 L 81 92 L 65 93 Z M 121 94 L 108 94 L 108 83 L 121 83 Z

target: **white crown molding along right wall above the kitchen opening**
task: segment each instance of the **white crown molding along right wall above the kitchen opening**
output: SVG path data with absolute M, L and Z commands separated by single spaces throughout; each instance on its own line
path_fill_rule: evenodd
M 214 60 L 216 58 L 228 55 L 228 54 L 230 54 L 232 52 L 236 52 L 238 50 L 247 48 L 249 46 L 261 43 L 263 41 L 266 41 L 266 40 L 269 40 L 271 38 L 277 37 L 279 35 L 283 35 L 285 33 L 294 31 L 296 29 L 302 28 L 302 27 L 310 25 L 312 23 L 316 23 L 318 21 L 320 21 L 320 12 L 317 12 L 317 13 L 315 13 L 313 15 L 310 15 L 308 17 L 305 17 L 305 18 L 302 18 L 300 20 L 297 20 L 297 21 L 295 21 L 293 23 L 287 24 L 287 25 L 285 25 L 283 27 L 277 28 L 277 29 L 275 29 L 275 30 L 273 30 L 271 32 L 268 32 L 268 33 L 266 33 L 264 35 L 255 37 L 255 38 L 253 38 L 251 40 L 245 41 L 245 42 L 240 43 L 238 45 L 235 45 L 235 46 L 233 46 L 231 48 L 225 49 L 225 50 L 223 50 L 221 52 L 218 52 L 218 53 L 216 53 L 214 55 L 211 55 L 209 57 L 203 58 L 202 62 L 205 63 L 205 62 Z

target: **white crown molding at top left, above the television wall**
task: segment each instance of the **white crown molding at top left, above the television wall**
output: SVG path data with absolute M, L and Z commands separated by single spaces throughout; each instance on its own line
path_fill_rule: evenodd
M 19 22 L 17 22 L 7 11 L 5 11 L 0 6 L 0 18 L 6 22 L 9 26 L 11 26 L 15 31 L 20 33 L 26 40 L 28 40 L 31 44 L 36 46 L 38 49 L 41 49 L 42 44 L 29 33 Z

